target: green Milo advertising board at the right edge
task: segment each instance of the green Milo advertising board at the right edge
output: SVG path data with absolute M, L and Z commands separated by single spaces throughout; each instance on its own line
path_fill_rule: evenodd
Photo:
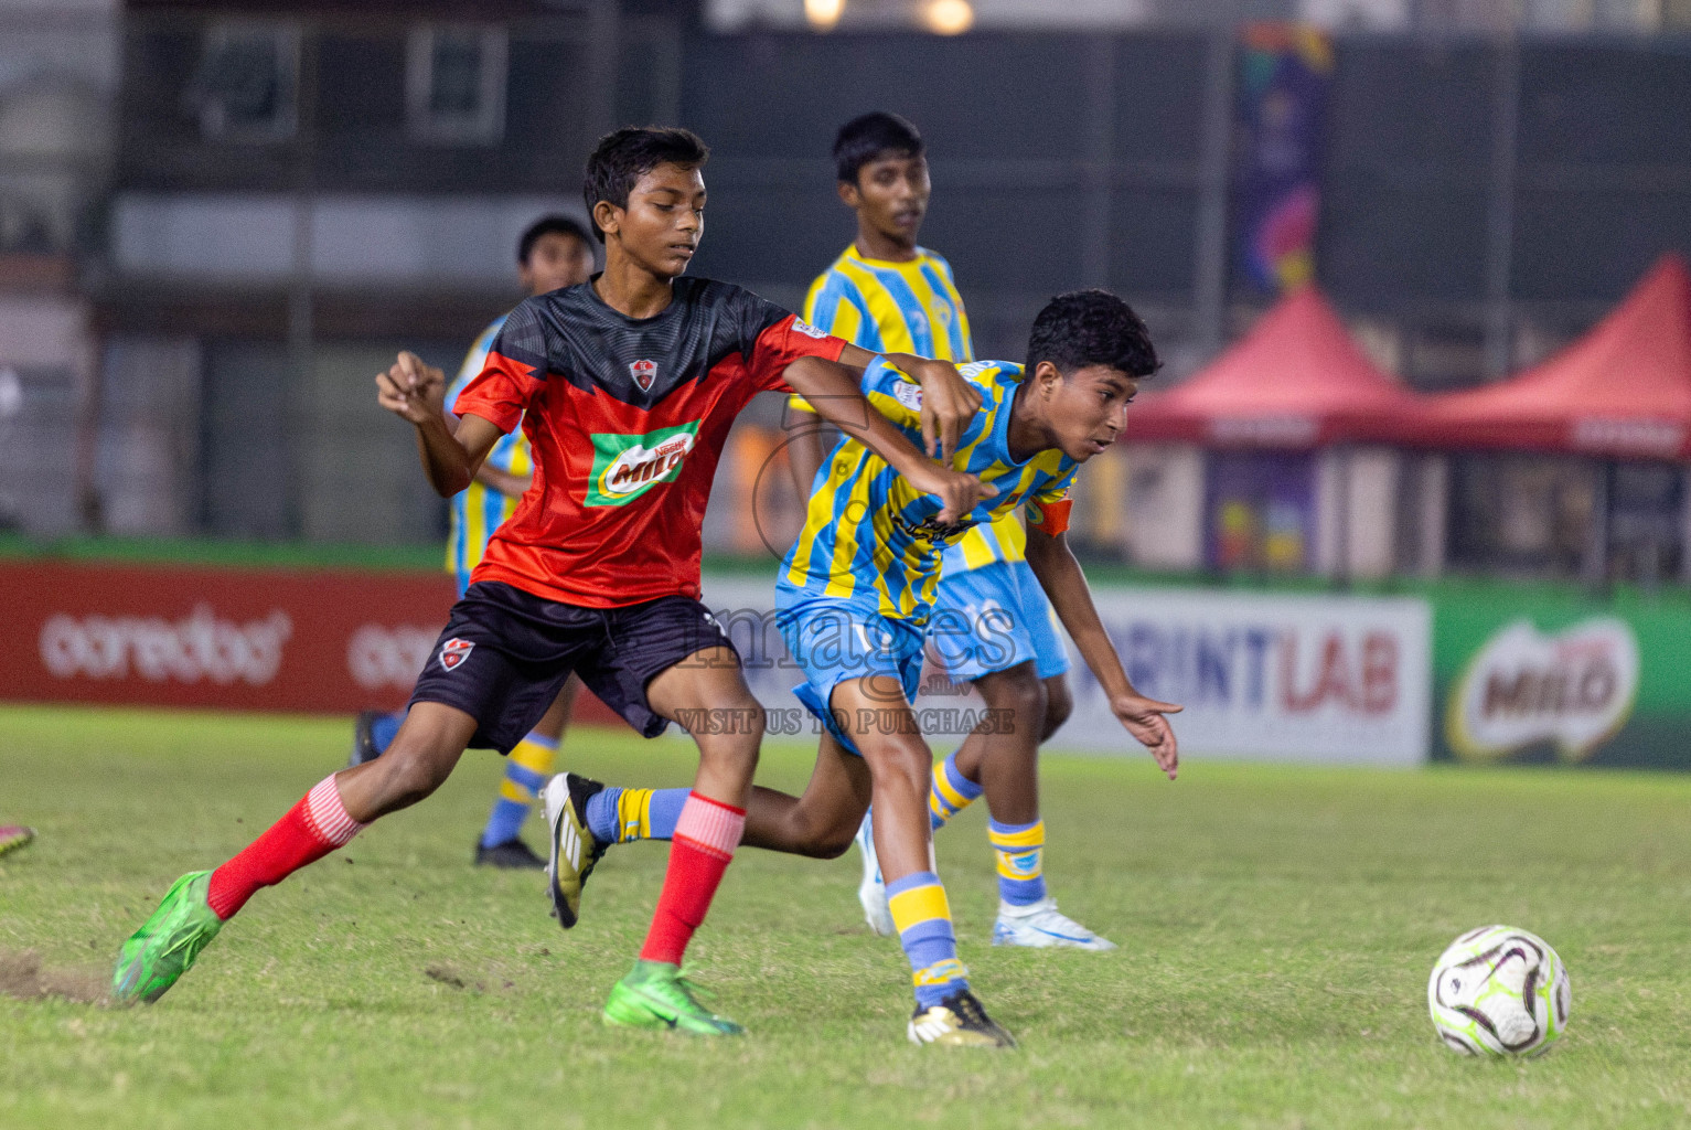
M 1436 597 L 1434 756 L 1691 770 L 1691 599 L 1475 582 Z

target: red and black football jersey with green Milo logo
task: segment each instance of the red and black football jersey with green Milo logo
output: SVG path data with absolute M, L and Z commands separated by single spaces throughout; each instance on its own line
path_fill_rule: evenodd
M 592 282 L 511 311 L 458 414 L 534 450 L 534 484 L 470 575 L 548 601 L 621 607 L 698 599 L 700 523 L 734 416 L 790 391 L 800 357 L 846 342 L 751 291 L 676 279 L 653 318 L 626 318 Z

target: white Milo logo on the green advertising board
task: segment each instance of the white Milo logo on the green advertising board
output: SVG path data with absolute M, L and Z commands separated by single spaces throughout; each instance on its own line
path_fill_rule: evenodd
M 1466 760 L 1552 743 L 1569 761 L 1620 732 L 1639 695 L 1639 641 L 1596 616 L 1544 634 L 1519 619 L 1497 631 L 1451 687 L 1444 738 Z

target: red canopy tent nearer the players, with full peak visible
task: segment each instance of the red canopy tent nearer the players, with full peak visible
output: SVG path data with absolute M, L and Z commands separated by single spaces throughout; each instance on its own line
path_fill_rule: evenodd
M 1363 355 L 1314 286 L 1280 301 L 1238 343 L 1128 409 L 1128 440 L 1312 448 L 1409 438 L 1420 399 Z

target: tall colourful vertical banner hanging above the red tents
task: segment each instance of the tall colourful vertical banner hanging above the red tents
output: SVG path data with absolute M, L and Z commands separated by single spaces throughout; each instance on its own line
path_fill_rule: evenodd
M 1240 51 L 1240 277 L 1283 294 L 1316 272 L 1321 139 L 1333 44 L 1314 27 L 1248 24 Z

